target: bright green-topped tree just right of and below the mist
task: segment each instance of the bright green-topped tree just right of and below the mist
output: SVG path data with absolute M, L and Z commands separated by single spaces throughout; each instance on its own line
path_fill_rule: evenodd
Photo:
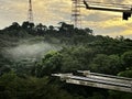
M 35 69 L 32 74 L 35 74 L 37 77 L 50 76 L 53 73 L 61 72 L 62 66 L 62 55 L 56 52 L 47 53 L 42 62 L 36 64 Z

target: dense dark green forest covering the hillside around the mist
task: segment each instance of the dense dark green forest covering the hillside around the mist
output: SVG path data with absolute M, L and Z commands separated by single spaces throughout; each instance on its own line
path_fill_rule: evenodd
M 41 38 L 62 48 L 48 52 L 30 65 L 4 56 L 2 50 L 31 37 L 35 37 L 32 42 Z M 14 22 L 0 31 L 0 99 L 132 99 L 131 94 L 67 85 L 51 77 L 53 73 L 88 69 L 132 78 L 130 38 L 94 35 L 90 29 L 74 29 L 65 22 L 57 29 L 42 23 Z

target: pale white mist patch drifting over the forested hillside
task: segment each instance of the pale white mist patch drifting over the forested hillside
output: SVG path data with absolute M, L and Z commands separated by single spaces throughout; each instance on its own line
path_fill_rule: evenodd
M 58 44 L 50 44 L 47 42 L 34 42 L 34 43 L 22 43 L 15 47 L 4 48 L 4 56 L 13 59 L 21 61 L 25 58 L 38 59 L 42 58 L 50 51 L 61 50 Z

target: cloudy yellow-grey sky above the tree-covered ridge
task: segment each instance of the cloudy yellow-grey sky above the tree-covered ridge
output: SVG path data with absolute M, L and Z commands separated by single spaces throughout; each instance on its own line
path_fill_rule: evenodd
M 0 0 L 0 29 L 12 22 L 28 20 L 29 0 Z M 132 4 L 132 0 L 88 0 L 103 3 Z M 72 0 L 32 0 L 34 23 L 57 25 L 70 23 Z M 81 28 L 90 28 L 95 34 L 132 38 L 132 18 L 122 20 L 122 13 L 86 10 L 81 8 Z

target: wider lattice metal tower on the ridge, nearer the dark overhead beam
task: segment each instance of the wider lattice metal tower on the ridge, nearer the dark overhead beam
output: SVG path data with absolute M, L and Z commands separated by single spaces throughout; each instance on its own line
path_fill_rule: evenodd
M 81 26 L 80 2 L 81 0 L 72 0 L 72 22 L 75 28 Z

